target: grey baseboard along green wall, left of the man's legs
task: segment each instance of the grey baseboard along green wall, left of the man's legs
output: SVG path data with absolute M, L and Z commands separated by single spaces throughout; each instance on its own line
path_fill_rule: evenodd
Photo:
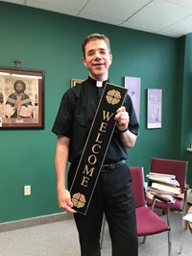
M 32 227 L 36 225 L 62 221 L 62 220 L 68 220 L 71 218 L 73 218 L 72 214 L 68 214 L 64 212 L 60 214 L 40 216 L 36 218 L 25 218 L 25 219 L 0 223 L 0 233 L 15 230 L 15 229 L 27 228 L 27 227 Z

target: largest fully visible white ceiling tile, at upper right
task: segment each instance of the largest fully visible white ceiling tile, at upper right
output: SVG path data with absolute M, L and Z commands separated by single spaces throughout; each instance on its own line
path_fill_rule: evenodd
M 163 29 L 178 20 L 190 15 L 192 10 L 171 3 L 156 0 L 133 15 L 128 22 L 150 28 Z

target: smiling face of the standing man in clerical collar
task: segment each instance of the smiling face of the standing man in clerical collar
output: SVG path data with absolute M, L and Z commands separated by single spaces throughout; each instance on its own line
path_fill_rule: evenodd
M 112 55 L 108 52 L 108 45 L 103 39 L 89 41 L 84 49 L 84 65 L 89 70 L 89 76 L 97 81 L 108 79 L 108 67 L 112 62 Z

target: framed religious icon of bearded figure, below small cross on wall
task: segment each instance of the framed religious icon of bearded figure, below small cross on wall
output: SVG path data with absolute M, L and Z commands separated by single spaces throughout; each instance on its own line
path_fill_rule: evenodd
M 43 129 L 44 71 L 0 67 L 0 129 Z

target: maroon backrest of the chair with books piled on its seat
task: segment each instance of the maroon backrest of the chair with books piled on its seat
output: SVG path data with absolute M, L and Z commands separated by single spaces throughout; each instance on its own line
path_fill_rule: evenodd
M 150 172 L 174 174 L 180 183 L 180 189 L 183 192 L 186 183 L 187 161 L 152 158 Z

